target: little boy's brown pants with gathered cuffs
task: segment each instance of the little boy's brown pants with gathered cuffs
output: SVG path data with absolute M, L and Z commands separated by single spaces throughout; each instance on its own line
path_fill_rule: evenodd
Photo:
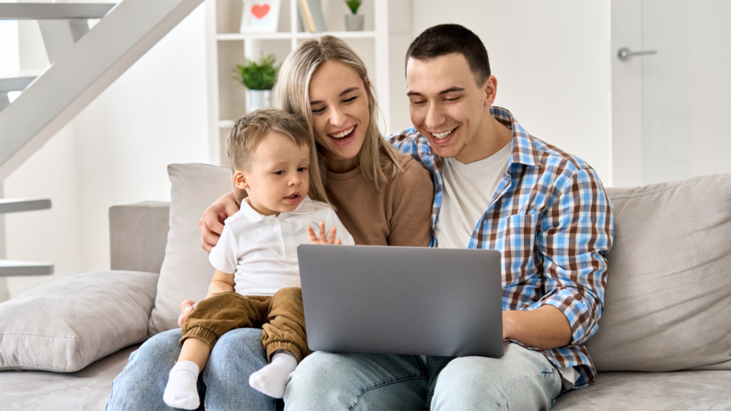
M 240 295 L 233 291 L 200 301 L 183 323 L 183 338 L 196 337 L 213 348 L 235 328 L 262 328 L 267 359 L 277 350 L 292 352 L 300 362 L 308 354 L 302 290 L 282 288 L 273 297 Z

